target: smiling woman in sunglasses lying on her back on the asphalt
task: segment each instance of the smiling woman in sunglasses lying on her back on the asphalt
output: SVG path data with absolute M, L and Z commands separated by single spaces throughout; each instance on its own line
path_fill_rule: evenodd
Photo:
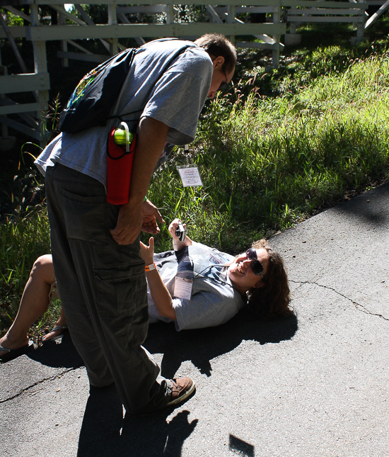
M 289 309 L 289 286 L 281 256 L 265 239 L 255 242 L 236 257 L 192 242 L 176 235 L 180 220 L 169 226 L 174 251 L 154 254 L 141 243 L 146 263 L 149 322 L 175 322 L 177 330 L 215 327 L 230 320 L 248 306 L 254 317 L 286 317 Z M 52 257 L 41 256 L 33 266 L 25 286 L 15 322 L 0 339 L 0 360 L 15 359 L 33 347 L 28 342 L 30 325 L 39 319 L 50 304 L 55 282 Z M 63 310 L 52 331 L 43 342 L 57 339 L 66 331 Z

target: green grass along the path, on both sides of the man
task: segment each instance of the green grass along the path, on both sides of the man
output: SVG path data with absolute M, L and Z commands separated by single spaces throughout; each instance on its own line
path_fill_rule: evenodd
M 236 84 L 207 102 L 190 152 L 178 150 L 153 178 L 149 198 L 167 222 L 156 251 L 170 249 L 167 227 L 175 217 L 187 222 L 192 239 L 236 254 L 385 181 L 388 43 L 302 45 L 269 73 L 269 55 L 243 50 Z M 202 187 L 182 188 L 176 167 L 187 163 L 198 165 Z M 1 334 L 16 315 L 33 261 L 50 251 L 45 205 L 29 203 L 42 180 L 29 171 L 16 184 L 7 194 L 12 215 L 0 225 Z M 59 303 L 37 323 L 35 335 L 52 325 L 58 309 Z

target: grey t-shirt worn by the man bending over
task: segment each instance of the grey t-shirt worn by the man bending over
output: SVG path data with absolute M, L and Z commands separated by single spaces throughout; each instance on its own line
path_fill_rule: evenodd
M 190 45 L 163 70 L 173 55 Z M 167 141 L 185 145 L 194 140 L 199 113 L 209 92 L 212 62 L 201 47 L 183 40 L 162 39 L 137 49 L 111 114 L 119 114 L 134 131 L 144 116 L 169 126 Z M 127 114 L 126 113 L 130 113 Z M 38 169 L 59 162 L 107 185 L 108 133 L 120 120 L 111 119 L 105 127 L 62 133 L 36 159 Z

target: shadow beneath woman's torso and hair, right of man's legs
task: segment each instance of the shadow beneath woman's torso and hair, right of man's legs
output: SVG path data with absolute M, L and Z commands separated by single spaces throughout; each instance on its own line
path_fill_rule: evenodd
M 200 373 L 211 376 L 211 360 L 233 351 L 244 340 L 259 344 L 279 343 L 291 339 L 298 329 L 295 315 L 274 321 L 252 321 L 240 313 L 226 324 L 197 330 L 176 332 L 173 324 L 150 325 L 144 347 L 162 353 L 161 374 L 173 378 L 183 361 L 191 361 Z

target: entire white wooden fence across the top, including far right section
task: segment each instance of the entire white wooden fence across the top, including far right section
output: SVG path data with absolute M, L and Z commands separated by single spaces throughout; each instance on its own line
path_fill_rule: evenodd
M 69 0 L 68 0 L 69 1 Z M 141 44 L 161 37 L 195 39 L 204 33 L 223 33 L 237 47 L 255 47 L 272 50 L 272 64 L 279 64 L 281 35 L 286 33 L 286 21 L 290 25 L 289 36 L 296 33 L 298 23 L 349 22 L 356 26 L 356 40 L 361 40 L 364 29 L 371 26 L 388 9 L 389 0 L 249 0 L 244 6 L 238 0 L 146 0 L 128 3 L 125 0 L 87 0 L 87 5 L 103 5 L 108 11 L 108 22 L 95 24 L 86 13 L 86 4 L 75 4 L 77 14 L 66 11 L 62 0 L 0 0 L 0 40 L 8 40 L 21 68 L 19 74 L 7 74 L 1 64 L 0 50 L 0 136 L 8 136 L 8 127 L 23 132 L 45 144 L 45 128 L 42 122 L 49 101 L 50 75 L 47 72 L 46 43 L 60 40 L 61 50 L 57 57 L 63 66 L 69 59 L 100 63 L 115 55 L 124 46 L 120 40 L 134 38 Z M 368 3 L 367 3 L 368 2 Z M 381 8 L 366 22 L 368 4 Z M 29 13 L 23 11 L 28 7 Z M 42 6 L 48 6 L 57 15 L 57 24 L 42 17 Z M 202 21 L 183 21 L 178 14 L 182 6 L 196 6 L 201 10 Z M 147 14 L 151 23 L 137 19 Z M 250 16 L 266 15 L 266 21 L 252 23 Z M 28 25 L 8 26 L 7 16 L 21 18 Z M 135 21 L 134 21 L 135 19 Z M 271 22 L 268 22 L 271 21 Z M 287 36 L 286 35 L 286 38 Z M 255 40 L 242 40 L 252 36 Z M 28 72 L 18 52 L 16 39 L 33 44 L 34 72 Z M 83 40 L 100 40 L 106 54 L 95 55 L 86 49 Z M 16 103 L 12 94 L 33 93 L 33 99 Z M 18 115 L 16 120 L 15 115 Z M 11 117 L 10 117 L 11 116 Z M 1 139 L 1 138 L 0 138 Z M 1 142 L 0 142 L 1 147 Z

